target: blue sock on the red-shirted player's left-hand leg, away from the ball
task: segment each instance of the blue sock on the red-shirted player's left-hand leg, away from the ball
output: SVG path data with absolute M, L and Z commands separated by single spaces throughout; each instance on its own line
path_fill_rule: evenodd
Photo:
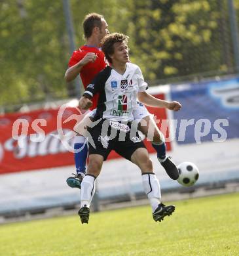
M 74 149 L 77 150 L 77 152 L 74 153 L 75 168 L 77 169 L 77 173 L 86 173 L 86 159 L 88 156 L 87 143 L 75 143 Z

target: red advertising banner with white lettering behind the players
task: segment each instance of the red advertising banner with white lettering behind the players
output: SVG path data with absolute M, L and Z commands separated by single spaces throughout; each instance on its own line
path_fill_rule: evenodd
M 167 119 L 164 109 L 148 109 L 156 119 Z M 72 131 L 80 116 L 77 108 L 0 116 L 0 174 L 73 165 L 73 153 L 69 152 L 69 147 L 73 148 Z M 145 141 L 145 144 L 149 152 L 155 152 L 150 142 Z M 170 143 L 167 143 L 167 150 L 171 150 Z M 111 152 L 108 159 L 118 157 Z

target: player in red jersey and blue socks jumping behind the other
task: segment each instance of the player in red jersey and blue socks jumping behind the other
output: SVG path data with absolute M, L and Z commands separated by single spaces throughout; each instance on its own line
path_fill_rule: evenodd
M 105 56 L 98 47 L 100 47 L 100 41 L 103 36 L 109 33 L 109 31 L 107 22 L 103 16 L 97 13 L 90 13 L 86 15 L 83 21 L 83 28 L 86 45 L 77 51 L 74 51 L 72 54 L 69 60 L 69 68 L 67 68 L 65 72 L 65 79 L 69 82 L 80 74 L 85 88 L 90 81 L 92 81 L 95 75 L 106 66 L 104 60 Z M 146 93 L 141 93 L 141 95 L 139 95 L 139 100 L 144 104 L 148 104 L 148 96 Z M 94 98 L 92 98 L 91 109 L 93 110 L 96 108 L 97 104 L 98 95 L 95 95 Z M 175 110 L 175 104 L 168 104 L 168 108 L 170 110 Z M 147 108 L 145 108 L 145 106 L 140 102 L 137 102 L 134 107 L 133 115 L 134 119 L 138 119 L 139 121 L 139 131 L 141 131 L 147 139 L 151 140 L 151 144 L 156 150 L 158 161 L 160 161 L 168 176 L 171 179 L 177 180 L 179 177 L 177 167 L 170 160 L 170 157 L 166 156 L 164 135 L 162 135 L 156 126 L 156 123 L 151 117 L 151 114 L 147 111 Z M 153 131 L 153 134 L 149 134 L 149 131 Z M 81 188 L 81 181 L 86 171 L 86 158 L 88 156 L 88 147 L 84 136 L 75 136 L 74 149 L 75 168 L 77 174 L 73 177 L 69 177 L 67 179 L 67 184 L 71 186 L 71 188 Z

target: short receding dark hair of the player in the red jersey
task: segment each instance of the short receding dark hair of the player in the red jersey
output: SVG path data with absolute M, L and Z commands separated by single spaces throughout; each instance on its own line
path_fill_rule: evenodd
M 87 14 L 83 20 L 84 37 L 87 39 L 92 35 L 92 31 L 95 27 L 101 29 L 103 15 L 92 12 Z

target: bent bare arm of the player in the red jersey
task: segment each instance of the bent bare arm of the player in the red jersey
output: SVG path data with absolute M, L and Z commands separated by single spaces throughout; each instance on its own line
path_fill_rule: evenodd
M 87 53 L 82 60 L 80 60 L 77 64 L 74 66 L 71 66 L 70 68 L 67 68 L 65 72 L 65 80 L 67 82 L 72 81 L 79 75 L 81 72 L 81 69 L 84 65 L 88 64 L 89 62 L 94 62 L 97 58 L 97 55 L 95 53 Z

